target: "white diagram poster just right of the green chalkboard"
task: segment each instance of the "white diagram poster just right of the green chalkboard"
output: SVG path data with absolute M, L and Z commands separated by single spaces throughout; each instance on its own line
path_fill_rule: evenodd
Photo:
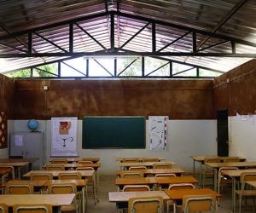
M 168 116 L 149 116 L 148 133 L 150 150 L 167 149 L 167 121 Z

